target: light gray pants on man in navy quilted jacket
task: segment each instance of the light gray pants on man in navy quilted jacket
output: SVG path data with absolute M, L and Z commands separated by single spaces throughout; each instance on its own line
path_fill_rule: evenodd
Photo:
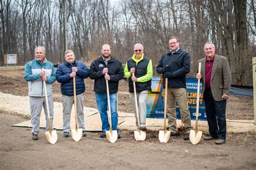
M 85 130 L 85 128 L 84 128 L 83 95 L 84 95 L 84 93 L 77 95 L 77 119 L 78 119 L 78 128 Z M 74 96 L 62 95 L 63 132 L 70 131 L 70 116 L 71 116 L 71 109 L 72 109 L 73 102 L 74 102 Z

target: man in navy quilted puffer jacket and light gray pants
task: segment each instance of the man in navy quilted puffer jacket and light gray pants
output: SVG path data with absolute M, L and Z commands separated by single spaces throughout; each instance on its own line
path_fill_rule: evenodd
M 63 136 L 69 137 L 70 115 L 74 101 L 73 77 L 76 77 L 78 128 L 83 130 L 82 136 L 85 137 L 83 94 L 85 91 L 84 79 L 89 76 L 89 69 L 83 62 L 75 60 L 72 50 L 65 51 L 65 60 L 56 71 L 57 81 L 60 83 L 62 92 Z

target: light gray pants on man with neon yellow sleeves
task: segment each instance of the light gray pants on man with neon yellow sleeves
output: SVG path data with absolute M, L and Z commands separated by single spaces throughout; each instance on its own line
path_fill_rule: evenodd
M 149 93 L 149 90 L 144 90 L 141 91 L 140 93 L 137 93 L 138 97 L 138 110 L 139 110 L 139 121 L 140 121 L 140 126 L 146 126 L 146 116 L 147 116 L 147 106 L 146 106 L 146 99 L 147 99 L 147 94 Z M 136 105 L 135 105 L 135 97 L 134 93 L 130 93 L 130 100 L 132 103 L 132 107 L 134 110 L 135 118 L 136 118 L 136 126 L 138 129 L 138 119 L 137 119 L 137 114 L 136 114 Z

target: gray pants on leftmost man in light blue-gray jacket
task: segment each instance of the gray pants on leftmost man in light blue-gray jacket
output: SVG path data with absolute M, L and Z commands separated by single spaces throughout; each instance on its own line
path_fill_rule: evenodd
M 45 119 L 46 119 L 46 131 L 49 131 L 49 122 L 48 122 L 45 97 L 29 96 L 29 103 L 30 103 L 31 124 L 32 124 L 31 133 L 33 133 L 33 134 L 39 133 L 40 116 L 41 116 L 42 107 L 44 107 L 44 114 L 45 114 Z M 53 123 L 52 123 L 53 122 L 53 99 L 52 99 L 52 95 L 48 96 L 48 103 L 49 103 L 49 110 L 50 110 L 51 129 L 53 129 Z

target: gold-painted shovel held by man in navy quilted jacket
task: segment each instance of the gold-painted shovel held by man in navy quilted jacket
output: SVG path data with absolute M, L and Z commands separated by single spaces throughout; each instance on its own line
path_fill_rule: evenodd
M 73 89 L 74 89 L 74 105 L 75 105 L 75 121 L 76 128 L 71 129 L 71 136 L 75 141 L 79 141 L 82 138 L 82 129 L 78 129 L 77 121 L 77 95 L 76 95 L 76 77 L 73 77 Z

